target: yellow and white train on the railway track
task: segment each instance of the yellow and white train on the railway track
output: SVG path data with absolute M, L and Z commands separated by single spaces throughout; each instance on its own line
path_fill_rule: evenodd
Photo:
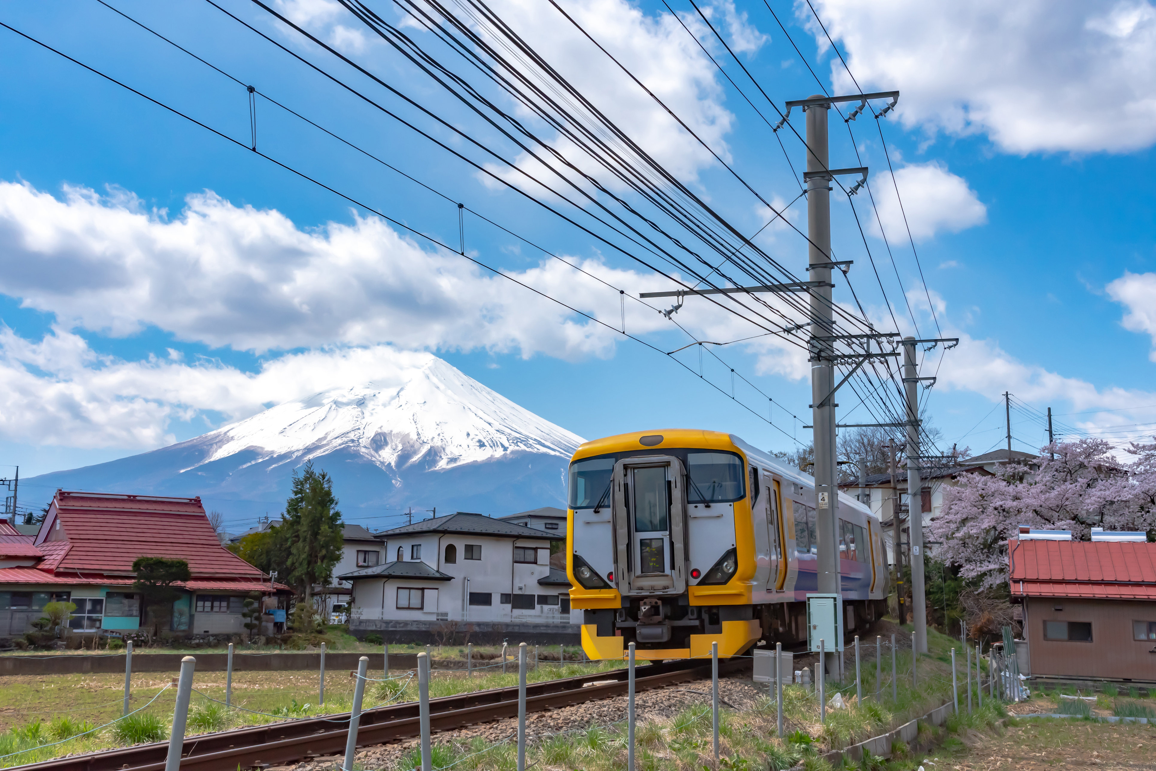
M 733 434 L 674 429 L 586 442 L 570 462 L 566 574 L 591 658 L 667 659 L 807 639 L 817 591 L 815 480 Z M 844 626 L 887 609 L 879 517 L 839 494 Z

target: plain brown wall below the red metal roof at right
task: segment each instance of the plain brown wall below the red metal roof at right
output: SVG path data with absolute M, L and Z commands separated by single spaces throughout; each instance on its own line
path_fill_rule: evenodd
M 1061 608 L 1061 609 L 1057 609 Z M 1088 621 L 1091 642 L 1044 639 L 1045 621 Z M 1028 598 L 1024 635 L 1033 676 L 1156 681 L 1154 641 L 1136 641 L 1133 621 L 1156 621 L 1156 602 Z

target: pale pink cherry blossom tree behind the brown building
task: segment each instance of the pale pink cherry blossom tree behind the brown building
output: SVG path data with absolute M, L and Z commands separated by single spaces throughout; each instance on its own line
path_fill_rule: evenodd
M 1021 526 L 1070 530 L 1090 540 L 1092 527 L 1156 531 L 1156 443 L 1133 443 L 1118 459 L 1107 442 L 1082 439 L 1050 444 L 1031 464 L 1009 464 L 995 476 L 964 474 L 943 493 L 927 527 L 935 559 L 958 566 L 981 587 L 1008 576 L 1008 539 Z M 1054 454 L 1054 457 L 1052 457 Z

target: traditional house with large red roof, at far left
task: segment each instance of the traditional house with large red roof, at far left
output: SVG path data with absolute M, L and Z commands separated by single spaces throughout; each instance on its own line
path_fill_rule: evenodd
M 0 532 L 0 636 L 24 634 L 54 600 L 76 606 L 71 632 L 140 629 L 148 608 L 132 566 L 142 556 L 185 560 L 192 574 L 161 614 L 164 631 L 244 634 L 245 598 L 287 589 L 221 546 L 199 497 L 58 489 L 36 536 Z

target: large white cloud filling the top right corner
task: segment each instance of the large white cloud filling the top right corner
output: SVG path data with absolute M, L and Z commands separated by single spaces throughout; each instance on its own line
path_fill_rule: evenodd
M 1156 8 L 1146 0 L 815 7 L 864 90 L 902 92 L 909 128 L 983 133 L 1014 154 L 1127 152 L 1156 141 Z M 809 16 L 803 3 L 796 10 Z M 837 58 L 831 67 L 837 89 L 854 92 Z

